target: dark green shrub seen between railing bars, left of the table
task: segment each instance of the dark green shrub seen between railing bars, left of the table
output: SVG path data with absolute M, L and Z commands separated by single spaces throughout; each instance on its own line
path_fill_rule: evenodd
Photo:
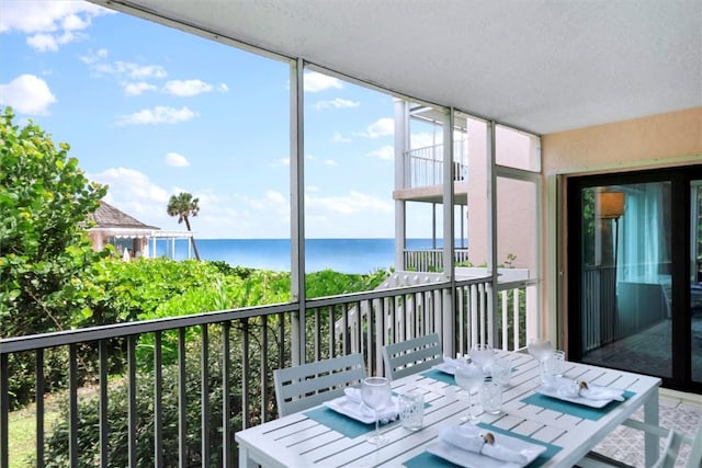
M 210 369 L 210 447 L 211 459 L 207 466 L 220 466 L 222 456 L 222 366 L 217 358 L 220 353 L 220 341 L 212 340 L 210 346 L 208 369 Z M 188 344 L 188 359 L 185 362 L 185 395 L 186 395 L 186 463 L 184 466 L 201 466 L 201 376 L 200 358 L 201 349 L 196 342 Z M 213 357 L 214 356 L 214 357 Z M 162 440 L 163 440 L 163 464 L 168 467 L 179 466 L 179 400 L 178 400 L 178 366 L 167 365 L 162 367 Z M 234 375 L 231 376 L 234 378 Z M 235 381 L 235 380 L 231 380 Z M 137 466 L 156 466 L 154 460 L 154 374 L 151 372 L 140 372 L 136 378 L 136 410 L 137 410 L 137 438 L 136 456 Z M 231 396 L 233 411 L 229 419 L 230 427 L 234 431 L 241 429 L 241 398 Z M 79 425 L 78 425 L 78 466 L 92 467 L 100 461 L 100 400 L 97 391 L 88 393 L 81 398 L 79 403 Z M 109 421 L 109 464 L 110 466 L 128 466 L 128 400 L 127 385 L 124 379 L 111 383 L 107 398 L 107 421 Z M 68 466 L 68 434 L 69 418 L 66 404 L 60 410 L 54 431 L 46 441 L 45 460 L 46 467 Z M 234 441 L 233 441 L 234 442 Z M 235 446 L 233 443 L 231 446 Z M 233 454 L 234 455 L 234 454 Z

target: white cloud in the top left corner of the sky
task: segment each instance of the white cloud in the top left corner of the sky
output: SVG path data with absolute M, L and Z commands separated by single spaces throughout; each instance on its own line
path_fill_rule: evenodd
M 27 45 L 39 52 L 86 37 L 92 19 L 116 13 L 84 1 L 4 2 L 0 15 L 0 33 L 19 31 L 27 34 Z

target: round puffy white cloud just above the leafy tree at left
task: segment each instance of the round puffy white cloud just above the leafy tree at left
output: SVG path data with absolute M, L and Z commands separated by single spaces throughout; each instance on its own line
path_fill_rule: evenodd
M 29 115 L 48 115 L 48 106 L 56 96 L 48 84 L 34 75 L 21 75 L 9 83 L 0 84 L 0 104 L 12 106 Z

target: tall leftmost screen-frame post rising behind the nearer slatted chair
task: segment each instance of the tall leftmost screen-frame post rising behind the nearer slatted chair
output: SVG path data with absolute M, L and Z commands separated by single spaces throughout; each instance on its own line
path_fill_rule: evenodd
M 290 193 L 291 297 L 298 311 L 292 320 L 292 362 L 305 363 L 305 138 L 304 73 L 302 59 L 291 61 L 290 72 Z

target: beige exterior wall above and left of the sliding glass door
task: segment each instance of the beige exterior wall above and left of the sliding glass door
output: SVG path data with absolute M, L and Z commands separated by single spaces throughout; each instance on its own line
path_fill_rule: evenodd
M 558 342 L 567 347 L 563 287 L 567 281 L 564 254 L 567 176 L 702 163 L 702 107 L 544 135 L 542 155 L 545 175 L 542 199 L 546 214 L 542 227 L 543 297 L 548 299 L 543 327 L 555 330 L 557 324 Z M 563 259 L 559 265 L 557 258 Z M 555 284 L 558 286 L 552 287 Z M 556 288 L 559 288 L 557 296 Z

